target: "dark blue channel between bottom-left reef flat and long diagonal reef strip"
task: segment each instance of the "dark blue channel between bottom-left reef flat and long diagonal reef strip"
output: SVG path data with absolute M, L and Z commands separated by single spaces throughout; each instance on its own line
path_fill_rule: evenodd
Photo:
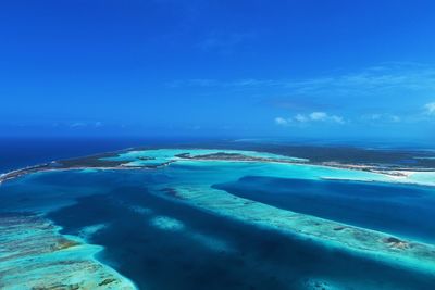
M 435 285 L 435 277 L 238 223 L 150 192 L 149 185 L 164 184 L 166 178 L 164 173 L 147 172 L 50 173 L 8 182 L 0 194 L 3 200 L 21 199 L 22 207 L 46 203 L 44 196 L 53 203 L 75 200 L 48 217 L 72 235 L 104 224 L 90 242 L 104 245 L 100 259 L 142 289 L 300 289 L 310 278 L 347 281 L 348 289 L 368 282 L 390 282 L 389 289 L 430 290 Z M 0 211 L 10 205 L 1 203 Z M 150 213 L 132 211 L 132 206 Z M 151 223 L 156 216 L 174 218 L 184 228 L 157 228 Z M 224 242 L 226 248 L 210 247 L 198 236 Z

